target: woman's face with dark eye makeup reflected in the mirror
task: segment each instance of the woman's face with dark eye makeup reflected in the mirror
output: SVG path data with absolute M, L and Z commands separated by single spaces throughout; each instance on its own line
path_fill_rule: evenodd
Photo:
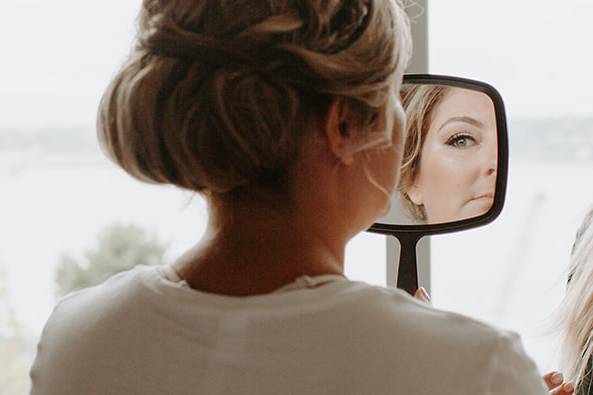
M 492 207 L 496 168 L 492 101 L 481 92 L 448 89 L 430 116 L 408 196 L 424 206 L 427 223 L 477 217 Z

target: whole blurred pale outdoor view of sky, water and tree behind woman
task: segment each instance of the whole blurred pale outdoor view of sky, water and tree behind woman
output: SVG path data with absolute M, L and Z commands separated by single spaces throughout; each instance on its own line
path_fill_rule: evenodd
M 9 1 L 0 24 L 0 394 L 28 391 L 58 298 L 197 241 L 204 202 L 141 184 L 100 152 L 95 114 L 130 48 L 139 1 Z M 432 238 L 434 304 L 518 331 L 557 367 L 550 317 L 574 234 L 593 204 L 593 4 L 430 1 L 430 72 L 486 81 L 505 100 L 506 207 Z M 385 239 L 347 250 L 353 279 L 385 283 Z

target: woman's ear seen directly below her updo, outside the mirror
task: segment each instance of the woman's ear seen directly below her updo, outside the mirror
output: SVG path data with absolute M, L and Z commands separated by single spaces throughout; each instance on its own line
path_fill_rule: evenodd
M 331 152 L 347 166 L 354 162 L 355 133 L 353 125 L 351 110 L 343 99 L 335 99 L 325 116 L 323 132 Z

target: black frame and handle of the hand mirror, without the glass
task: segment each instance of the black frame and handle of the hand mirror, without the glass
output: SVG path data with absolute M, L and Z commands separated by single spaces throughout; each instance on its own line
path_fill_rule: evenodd
M 367 232 L 394 236 L 399 240 L 401 253 L 397 271 L 397 287 L 405 289 L 413 295 L 418 289 L 418 270 L 416 266 L 416 244 L 418 240 L 428 235 L 459 232 L 484 226 L 494 221 L 502 212 L 508 178 L 509 144 L 504 103 L 500 93 L 493 86 L 467 78 L 433 74 L 406 74 L 403 77 L 403 83 L 447 85 L 485 93 L 494 104 L 498 131 L 496 192 L 492 207 L 487 213 L 475 218 L 443 224 L 392 225 L 377 222 L 367 229 Z

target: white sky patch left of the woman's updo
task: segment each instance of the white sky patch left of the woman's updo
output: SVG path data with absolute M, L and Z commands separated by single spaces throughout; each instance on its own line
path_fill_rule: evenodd
M 3 2 L 0 127 L 93 125 L 101 94 L 130 47 L 139 4 Z

